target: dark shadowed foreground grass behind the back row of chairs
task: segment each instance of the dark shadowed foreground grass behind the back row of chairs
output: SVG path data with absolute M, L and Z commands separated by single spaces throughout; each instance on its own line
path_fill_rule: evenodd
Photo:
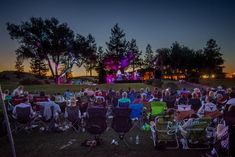
M 140 144 L 136 145 L 134 141 L 130 141 L 130 137 L 135 139 L 136 135 L 140 136 Z M 92 138 L 88 133 L 76 133 L 68 130 L 61 133 L 45 133 L 45 132 L 20 132 L 14 134 L 15 147 L 17 157 L 198 157 L 204 153 L 203 150 L 155 150 L 150 132 L 143 132 L 134 129 L 126 134 L 129 144 L 127 148 L 124 144 L 111 145 L 112 139 L 118 139 L 118 135 L 109 129 L 102 136 L 103 144 L 90 150 L 88 147 L 81 146 L 81 143 Z M 72 144 L 62 148 L 69 143 Z M 7 137 L 0 138 L 0 154 L 2 157 L 11 156 L 11 148 Z

